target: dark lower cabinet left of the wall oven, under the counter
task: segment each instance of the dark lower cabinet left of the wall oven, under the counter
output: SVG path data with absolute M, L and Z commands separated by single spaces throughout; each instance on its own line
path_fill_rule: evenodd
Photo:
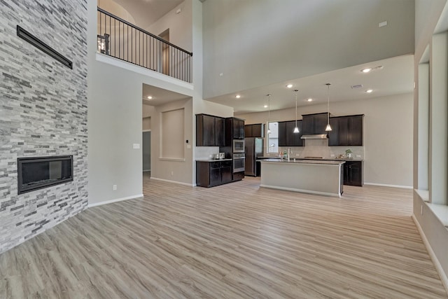
M 213 187 L 232 181 L 232 161 L 196 161 L 196 185 Z

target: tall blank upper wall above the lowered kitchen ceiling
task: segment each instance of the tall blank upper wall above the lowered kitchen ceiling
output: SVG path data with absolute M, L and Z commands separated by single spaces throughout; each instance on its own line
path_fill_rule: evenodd
M 413 0 L 203 6 L 204 99 L 414 53 Z M 388 25 L 379 28 L 384 20 Z

